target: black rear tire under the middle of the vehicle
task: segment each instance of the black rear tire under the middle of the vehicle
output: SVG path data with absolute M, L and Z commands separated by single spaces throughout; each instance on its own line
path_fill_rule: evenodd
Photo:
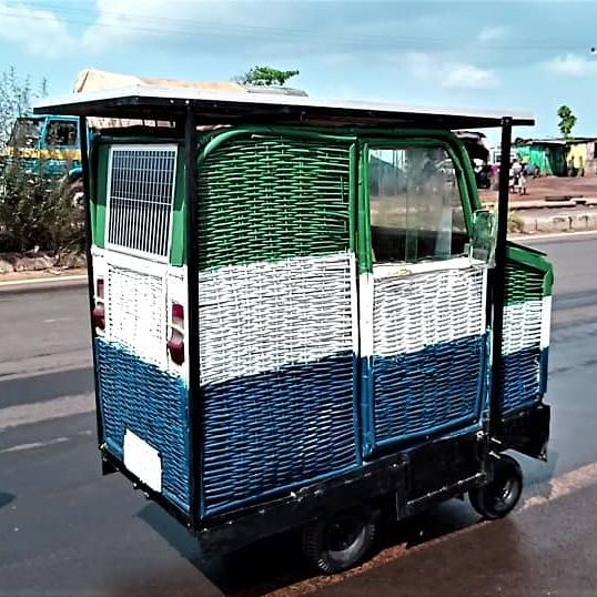
M 303 529 L 303 553 L 324 574 L 362 561 L 377 534 L 377 513 L 367 506 L 321 518 Z

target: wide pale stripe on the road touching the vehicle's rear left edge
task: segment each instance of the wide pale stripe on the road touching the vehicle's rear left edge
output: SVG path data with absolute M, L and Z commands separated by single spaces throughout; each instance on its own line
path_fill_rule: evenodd
M 93 394 L 80 394 L 34 404 L 9 406 L 0 409 L 0 432 L 20 425 L 91 413 L 94 408 Z

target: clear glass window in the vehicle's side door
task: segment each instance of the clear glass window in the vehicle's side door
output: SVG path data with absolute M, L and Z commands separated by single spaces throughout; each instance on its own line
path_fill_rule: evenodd
M 456 170 L 444 148 L 370 149 L 376 263 L 444 260 L 468 242 Z

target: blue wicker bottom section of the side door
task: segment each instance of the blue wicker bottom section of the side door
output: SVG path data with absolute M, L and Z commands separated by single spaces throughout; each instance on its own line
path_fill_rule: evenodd
M 473 336 L 412 354 L 373 357 L 375 443 L 470 424 L 480 413 L 485 337 Z

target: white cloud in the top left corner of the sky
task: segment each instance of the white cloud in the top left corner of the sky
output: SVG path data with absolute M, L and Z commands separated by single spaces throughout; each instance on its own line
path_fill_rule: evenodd
M 75 47 L 65 22 L 53 12 L 4 1 L 0 1 L 0 39 L 45 58 L 64 55 Z

